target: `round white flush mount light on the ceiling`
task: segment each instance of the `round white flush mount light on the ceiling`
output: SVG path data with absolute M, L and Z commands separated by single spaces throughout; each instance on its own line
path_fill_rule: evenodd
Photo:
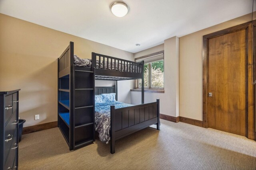
M 122 1 L 115 1 L 110 5 L 111 12 L 117 17 L 123 17 L 128 13 L 128 5 Z

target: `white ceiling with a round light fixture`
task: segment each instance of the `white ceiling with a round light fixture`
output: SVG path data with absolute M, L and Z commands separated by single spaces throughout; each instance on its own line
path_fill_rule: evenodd
M 252 10 L 252 0 L 124 0 L 118 18 L 113 1 L 0 0 L 0 13 L 136 53 Z

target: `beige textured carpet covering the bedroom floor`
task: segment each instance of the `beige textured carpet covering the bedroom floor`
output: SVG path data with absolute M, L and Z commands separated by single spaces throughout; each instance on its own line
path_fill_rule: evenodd
M 98 139 L 69 151 L 58 128 L 23 135 L 19 169 L 256 170 L 256 142 L 246 137 L 162 119 L 160 131 L 152 127 L 116 141 L 115 154 Z

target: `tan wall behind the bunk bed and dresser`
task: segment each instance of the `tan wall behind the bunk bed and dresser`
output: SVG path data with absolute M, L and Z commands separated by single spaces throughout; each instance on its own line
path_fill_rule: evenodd
M 21 88 L 25 126 L 57 121 L 57 58 L 69 41 L 81 58 L 96 52 L 134 60 L 132 53 L 0 14 L 0 89 Z M 132 82 L 118 85 L 124 88 L 118 96 L 129 103 Z M 34 120 L 36 114 L 40 120 Z

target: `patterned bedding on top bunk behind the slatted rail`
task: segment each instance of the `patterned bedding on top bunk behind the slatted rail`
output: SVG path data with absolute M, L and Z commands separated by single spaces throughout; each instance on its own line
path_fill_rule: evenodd
M 118 68 L 119 64 L 119 68 Z M 81 59 L 77 55 L 74 55 L 74 65 L 75 66 L 84 66 L 84 67 L 92 67 L 92 59 Z M 122 68 L 121 68 L 122 67 Z M 99 68 L 99 61 L 96 61 L 96 68 Z M 103 61 L 100 61 L 100 68 L 101 69 L 107 69 L 107 70 L 116 70 L 116 71 L 123 71 L 123 72 L 131 72 L 130 69 L 132 69 L 132 72 L 135 73 L 141 73 L 141 67 L 138 68 L 137 66 L 130 66 L 130 64 L 124 64 L 124 63 L 116 63 L 116 69 L 115 64 L 112 63 L 112 69 L 111 69 L 111 62 L 104 61 L 104 68 L 103 68 Z

